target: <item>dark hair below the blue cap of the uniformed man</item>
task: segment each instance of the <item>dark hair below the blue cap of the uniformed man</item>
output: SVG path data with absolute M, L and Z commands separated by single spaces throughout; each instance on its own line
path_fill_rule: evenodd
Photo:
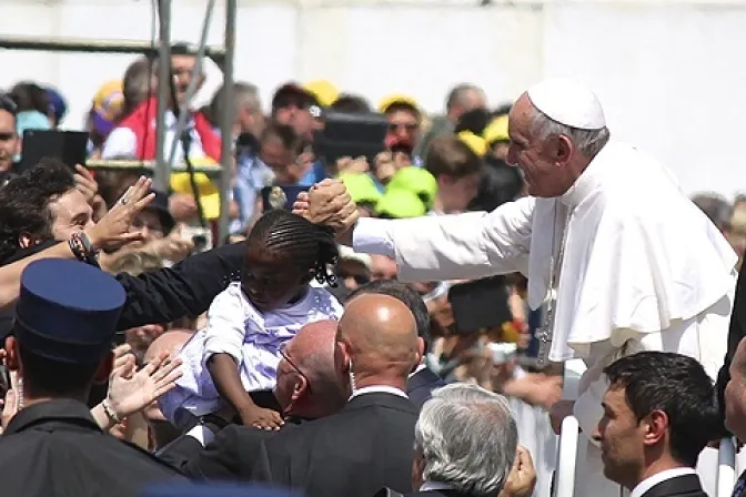
M 34 396 L 65 397 L 90 388 L 99 363 L 68 364 L 48 359 L 19 347 L 23 363 L 24 387 Z

